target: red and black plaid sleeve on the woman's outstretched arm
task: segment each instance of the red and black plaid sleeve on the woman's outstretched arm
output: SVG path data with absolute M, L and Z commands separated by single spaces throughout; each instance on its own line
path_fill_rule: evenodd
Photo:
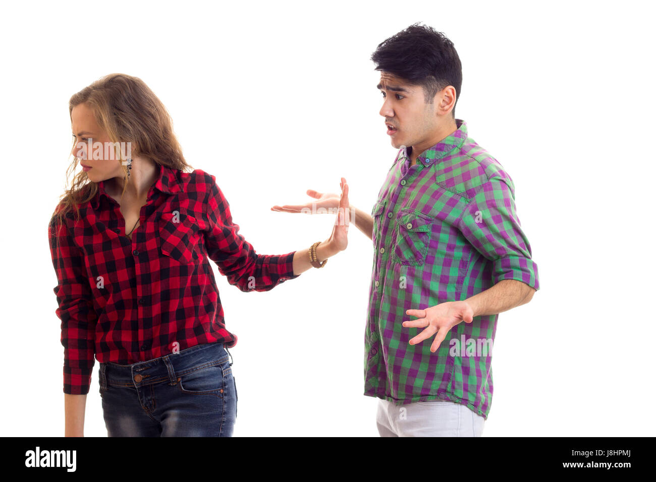
M 216 184 L 215 176 L 207 179 L 205 248 L 207 256 L 216 263 L 228 283 L 241 291 L 269 291 L 294 274 L 295 251 L 287 254 L 257 254 L 239 234 L 239 226 L 232 222 L 230 205 Z

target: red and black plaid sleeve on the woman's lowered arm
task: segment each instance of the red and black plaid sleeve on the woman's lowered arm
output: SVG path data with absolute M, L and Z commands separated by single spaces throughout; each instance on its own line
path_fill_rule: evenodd
M 57 277 L 53 289 L 58 303 L 55 313 L 62 322 L 64 393 L 83 395 L 91 386 L 98 315 L 93 308 L 83 252 L 73 243 L 66 224 L 57 226 L 52 218 L 48 237 Z

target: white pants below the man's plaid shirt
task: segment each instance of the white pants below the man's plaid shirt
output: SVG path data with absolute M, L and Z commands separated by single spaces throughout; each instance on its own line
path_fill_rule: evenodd
M 480 437 L 485 418 L 448 400 L 395 405 L 379 399 L 376 424 L 381 437 Z

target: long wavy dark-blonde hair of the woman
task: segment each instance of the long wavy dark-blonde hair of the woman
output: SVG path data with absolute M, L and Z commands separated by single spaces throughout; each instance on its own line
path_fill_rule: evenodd
M 73 94 L 68 101 L 70 115 L 79 104 L 86 104 L 94 111 L 98 126 L 107 132 L 114 146 L 120 142 L 131 142 L 133 157 L 139 155 L 156 164 L 181 171 L 192 169 L 184 160 L 182 147 L 173 132 L 171 115 L 161 100 L 138 77 L 123 73 L 105 75 Z M 73 139 L 73 146 L 76 143 L 77 139 Z M 117 155 L 120 154 L 117 152 Z M 77 165 L 79 159 L 75 157 L 66 170 L 67 186 L 52 214 L 51 225 L 56 219 L 58 226 L 62 226 L 64 218 L 73 210 L 76 220 L 79 220 L 79 206 L 93 199 L 98 192 L 98 184 L 89 180 L 84 171 L 78 172 L 70 182 L 70 176 Z M 121 167 L 125 171 L 126 180 L 129 180 L 127 167 Z M 126 186 L 127 182 L 123 186 L 124 193 Z

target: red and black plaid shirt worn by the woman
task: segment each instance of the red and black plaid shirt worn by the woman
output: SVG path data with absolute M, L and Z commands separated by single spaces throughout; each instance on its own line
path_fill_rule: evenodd
M 132 239 L 119 209 L 101 181 L 78 222 L 69 214 L 60 237 L 53 220 L 49 226 L 64 393 L 89 392 L 94 353 L 127 365 L 203 343 L 234 346 L 208 258 L 241 291 L 298 277 L 294 252 L 256 254 L 237 233 L 215 176 L 200 169 L 160 167 Z

